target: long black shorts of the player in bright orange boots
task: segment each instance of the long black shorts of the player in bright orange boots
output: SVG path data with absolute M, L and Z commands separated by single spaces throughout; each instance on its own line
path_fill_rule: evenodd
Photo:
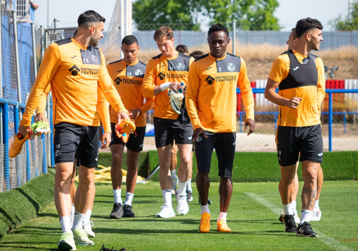
M 216 157 L 218 158 L 218 175 L 231 177 L 235 157 L 236 133 L 205 131 L 205 135 L 207 138 L 199 135 L 194 143 L 198 172 L 210 172 L 211 156 L 215 149 Z

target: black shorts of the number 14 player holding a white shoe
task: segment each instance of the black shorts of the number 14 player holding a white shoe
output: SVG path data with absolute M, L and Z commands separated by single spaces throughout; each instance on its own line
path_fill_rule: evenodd
M 180 123 L 176 119 L 162 119 L 154 117 L 154 138 L 155 146 L 163 147 L 176 144 L 193 144 L 192 123 Z

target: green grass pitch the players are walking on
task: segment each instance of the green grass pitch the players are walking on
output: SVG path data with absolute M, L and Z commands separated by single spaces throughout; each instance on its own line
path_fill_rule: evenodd
M 133 201 L 135 218 L 109 219 L 113 205 L 111 185 L 97 185 L 91 220 L 95 246 L 77 246 L 77 250 L 98 251 L 105 244 L 117 249 L 157 250 L 358 250 L 357 181 L 325 181 L 320 198 L 322 218 L 311 222 L 318 238 L 296 237 L 285 233 L 278 221 L 282 211 L 277 182 L 234 183 L 228 212 L 231 233 L 216 232 L 219 213 L 218 183 L 211 183 L 209 198 L 212 230 L 199 233 L 200 206 L 193 184 L 193 202 L 185 216 L 156 218 L 162 202 L 158 182 L 139 184 Z M 303 183 L 300 183 L 302 187 Z M 124 193 L 122 193 L 124 194 Z M 298 195 L 300 197 L 300 194 Z M 176 202 L 174 197 L 173 205 Z M 263 204 L 262 204 L 263 203 Z M 21 205 L 21 204 L 20 204 Z M 19 205 L 19 206 L 20 206 Z M 300 208 L 300 200 L 297 208 Z M 23 208 L 26 211 L 26 208 Z M 54 203 L 40 210 L 37 218 L 26 221 L 0 243 L 2 250 L 56 250 L 61 235 Z

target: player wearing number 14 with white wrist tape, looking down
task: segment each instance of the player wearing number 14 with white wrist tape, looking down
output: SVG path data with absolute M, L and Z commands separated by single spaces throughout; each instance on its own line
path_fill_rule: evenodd
M 176 212 L 178 214 L 189 212 L 185 189 L 192 168 L 190 157 L 193 148 L 191 141 L 193 127 L 190 120 L 188 122 L 178 120 L 180 116 L 171 108 L 168 89 L 179 91 L 179 89 L 185 87 L 189 66 L 194 58 L 175 50 L 173 31 L 169 27 L 162 26 L 156 29 L 154 40 L 161 54 L 151 58 L 148 62 L 142 84 L 142 93 L 145 98 L 155 95 L 155 146 L 159 156 L 159 183 L 164 200 L 157 216 L 169 218 L 175 216 L 171 203 L 171 175 L 169 171 L 170 149 L 173 145 L 173 139 L 178 146 L 180 161 L 178 168 L 179 187 L 175 196 L 178 201 Z

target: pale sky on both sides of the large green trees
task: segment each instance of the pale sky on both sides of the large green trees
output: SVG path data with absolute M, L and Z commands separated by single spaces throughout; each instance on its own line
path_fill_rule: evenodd
M 54 18 L 62 22 L 77 24 L 77 18 L 83 11 L 92 9 L 110 22 L 116 0 L 32 0 L 39 8 L 35 11 L 35 25 L 51 25 Z M 139 0 L 140 1 L 140 0 Z M 329 21 L 348 15 L 348 3 L 354 0 L 278 0 L 280 6 L 274 15 L 284 30 L 290 30 L 301 18 L 316 18 L 324 27 Z M 295 4 L 296 3 L 296 4 Z

